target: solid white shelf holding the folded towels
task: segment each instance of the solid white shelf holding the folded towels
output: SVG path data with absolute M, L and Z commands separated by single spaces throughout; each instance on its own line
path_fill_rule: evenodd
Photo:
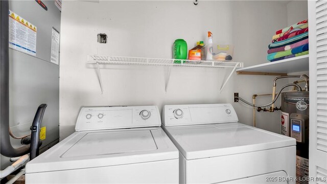
M 243 75 L 274 75 L 283 76 L 292 72 L 309 71 L 309 55 L 298 56 L 280 61 L 267 62 L 236 70 Z

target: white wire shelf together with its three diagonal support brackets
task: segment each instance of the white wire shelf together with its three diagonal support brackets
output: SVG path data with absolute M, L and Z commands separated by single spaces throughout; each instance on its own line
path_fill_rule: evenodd
M 193 67 L 215 67 L 215 68 L 231 68 L 231 72 L 228 78 L 224 81 L 220 88 L 220 93 L 227 81 L 235 72 L 236 68 L 243 67 L 242 62 L 230 62 L 230 61 L 202 61 L 202 60 L 186 60 L 186 59 L 159 59 L 159 58 L 141 58 L 141 57 L 122 57 L 122 56 L 100 56 L 100 55 L 88 55 L 87 62 L 97 65 L 98 78 L 101 87 L 101 93 L 103 93 L 102 78 L 100 73 L 100 64 L 123 64 L 123 65 L 152 65 L 152 66 L 170 66 L 168 79 L 166 82 L 165 91 L 170 79 L 170 73 L 172 66 L 193 66 Z

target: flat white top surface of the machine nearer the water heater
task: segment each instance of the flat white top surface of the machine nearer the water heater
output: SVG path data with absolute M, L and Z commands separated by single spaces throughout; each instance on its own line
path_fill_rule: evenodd
M 295 139 L 241 123 L 165 127 L 186 159 L 295 146 Z

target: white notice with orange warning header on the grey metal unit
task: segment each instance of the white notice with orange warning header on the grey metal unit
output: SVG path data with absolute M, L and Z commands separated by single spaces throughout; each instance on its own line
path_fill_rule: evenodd
M 36 26 L 9 10 L 9 48 L 36 55 Z

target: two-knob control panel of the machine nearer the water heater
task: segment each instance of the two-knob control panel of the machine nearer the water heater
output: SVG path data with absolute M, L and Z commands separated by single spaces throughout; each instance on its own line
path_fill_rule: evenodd
M 162 124 L 165 126 L 239 121 L 231 104 L 165 105 L 162 117 Z

